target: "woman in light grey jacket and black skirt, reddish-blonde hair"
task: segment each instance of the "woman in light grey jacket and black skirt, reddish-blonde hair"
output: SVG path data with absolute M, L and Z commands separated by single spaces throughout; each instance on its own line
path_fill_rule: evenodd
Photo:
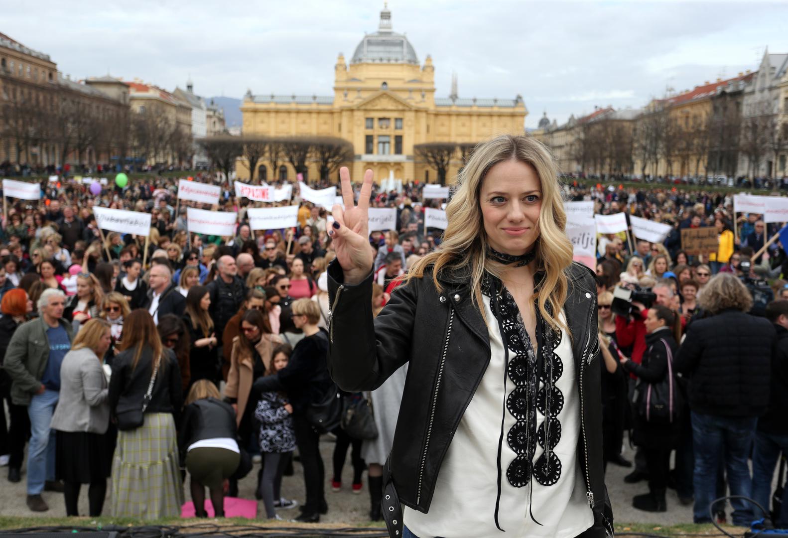
M 79 516 L 81 484 L 90 484 L 87 499 L 91 518 L 99 517 L 104 506 L 114 449 L 114 438 L 107 435 L 109 384 L 102 369 L 110 343 L 109 323 L 87 321 L 60 369 L 60 398 L 51 428 L 57 432 L 55 471 L 63 480 L 67 516 Z

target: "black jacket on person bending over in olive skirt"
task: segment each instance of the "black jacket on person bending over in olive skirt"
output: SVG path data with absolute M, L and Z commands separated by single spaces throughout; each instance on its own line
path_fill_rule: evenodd
M 229 403 L 203 398 L 184 408 L 178 430 L 178 448 L 182 456 L 197 441 L 217 438 L 236 438 L 236 413 Z

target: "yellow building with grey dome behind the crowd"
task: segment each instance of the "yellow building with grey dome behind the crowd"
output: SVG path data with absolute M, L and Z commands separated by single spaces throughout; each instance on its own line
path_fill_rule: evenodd
M 351 173 L 360 178 L 373 169 L 376 180 L 435 182 L 437 172 L 414 154 L 414 145 L 430 142 L 478 143 L 491 135 L 522 134 L 528 111 L 522 96 L 459 98 L 456 79 L 447 98 L 435 95 L 432 58 L 420 65 L 407 37 L 392 31 L 391 11 L 384 8 L 377 32 L 367 34 L 350 63 L 340 53 L 334 66 L 333 95 L 252 95 L 241 104 L 244 135 L 336 136 L 353 145 Z M 296 173 L 289 163 L 270 169 L 258 164 L 260 180 Z M 446 180 L 455 181 L 462 156 L 455 152 Z M 239 161 L 236 172 L 248 179 Z M 307 179 L 318 178 L 318 165 L 308 163 Z M 336 180 L 335 177 L 332 180 Z

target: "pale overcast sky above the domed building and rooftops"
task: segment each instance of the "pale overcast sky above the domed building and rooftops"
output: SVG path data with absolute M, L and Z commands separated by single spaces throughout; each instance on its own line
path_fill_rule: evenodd
M 206 97 L 333 95 L 333 66 L 375 32 L 383 2 L 361 0 L 35 0 L 8 2 L 0 32 L 50 54 L 72 78 L 134 77 Z M 392 0 L 392 26 L 436 95 L 452 72 L 464 98 L 520 94 L 535 127 L 594 106 L 640 107 L 757 69 L 788 52 L 788 2 L 471 2 Z

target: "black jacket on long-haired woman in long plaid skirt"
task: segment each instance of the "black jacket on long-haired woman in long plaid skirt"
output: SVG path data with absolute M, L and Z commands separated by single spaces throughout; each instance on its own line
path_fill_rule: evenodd
M 179 294 L 180 295 L 180 294 Z M 153 375 L 153 350 L 143 347 L 136 368 L 132 368 L 136 346 L 129 347 L 116 355 L 110 377 L 110 412 L 113 415 L 123 411 L 140 409 Z M 162 349 L 162 363 L 156 374 L 156 382 L 151 393 L 151 403 L 146 413 L 171 413 L 180 416 L 180 406 L 184 402 L 183 386 L 180 381 L 180 368 L 173 351 Z

